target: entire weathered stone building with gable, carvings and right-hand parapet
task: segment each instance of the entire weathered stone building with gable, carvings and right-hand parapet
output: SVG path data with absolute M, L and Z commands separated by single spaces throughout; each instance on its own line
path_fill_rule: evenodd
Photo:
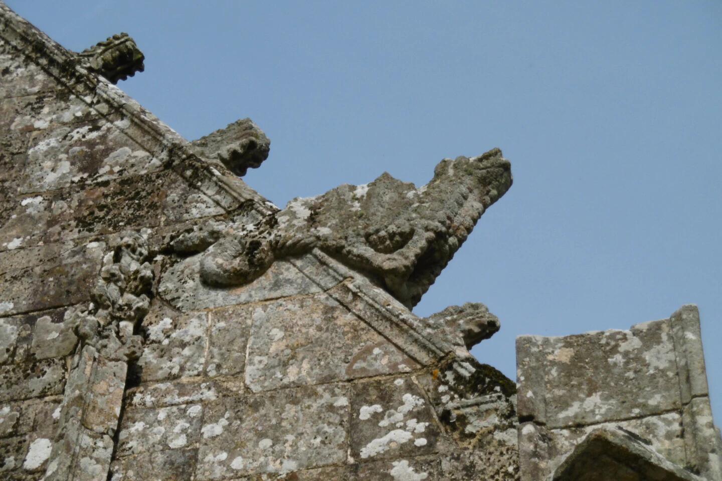
M 188 142 L 0 1 L 0 478 L 722 481 L 694 306 L 469 354 L 411 312 L 510 188 L 500 150 L 279 209 L 249 119 Z M 268 166 L 267 168 L 272 168 Z

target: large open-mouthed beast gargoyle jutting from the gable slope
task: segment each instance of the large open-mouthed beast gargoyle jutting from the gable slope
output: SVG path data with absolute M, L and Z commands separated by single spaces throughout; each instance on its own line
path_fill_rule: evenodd
M 205 252 L 201 277 L 212 286 L 248 283 L 274 260 L 318 247 L 411 307 L 511 183 L 510 163 L 492 149 L 444 159 L 419 188 L 384 173 L 367 185 L 297 198 L 255 224 L 227 227 Z

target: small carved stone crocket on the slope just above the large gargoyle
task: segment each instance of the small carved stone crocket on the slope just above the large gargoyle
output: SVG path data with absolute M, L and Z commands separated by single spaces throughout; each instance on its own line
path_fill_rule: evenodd
M 257 169 L 266 160 L 271 141 L 250 118 L 244 118 L 191 145 L 199 156 L 219 160 L 235 175 L 243 177 L 248 169 Z

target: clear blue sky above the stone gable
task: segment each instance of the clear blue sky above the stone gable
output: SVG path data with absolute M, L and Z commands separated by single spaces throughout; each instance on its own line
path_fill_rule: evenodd
M 722 2 L 6 3 L 73 50 L 129 32 L 119 87 L 189 140 L 251 117 L 279 206 L 500 147 L 513 187 L 414 312 L 484 302 L 514 378 L 517 335 L 698 304 L 722 423 Z

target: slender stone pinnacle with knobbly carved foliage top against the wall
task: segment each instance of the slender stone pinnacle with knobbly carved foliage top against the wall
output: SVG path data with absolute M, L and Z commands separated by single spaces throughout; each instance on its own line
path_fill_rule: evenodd
M 98 479 L 108 472 L 118 429 L 128 365 L 142 353 L 135 327 L 149 309 L 153 270 L 147 241 L 131 231 L 113 239 L 87 310 L 69 322 L 81 341 L 71 360 L 58 431 L 44 480 Z M 82 472 L 84 477 L 74 477 Z

